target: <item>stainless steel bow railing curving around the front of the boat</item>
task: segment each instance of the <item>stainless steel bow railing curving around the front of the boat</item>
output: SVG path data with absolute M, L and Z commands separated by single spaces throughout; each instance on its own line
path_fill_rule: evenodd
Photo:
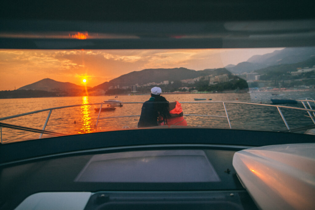
M 196 115 L 196 114 L 184 114 L 184 116 L 205 116 L 205 117 L 223 117 L 223 118 L 226 118 L 227 119 L 227 122 L 229 124 L 229 127 L 230 129 L 232 129 L 232 126 L 231 126 L 231 122 L 230 122 L 230 119 L 229 119 L 229 115 L 228 115 L 228 111 L 226 109 L 226 104 L 246 104 L 246 105 L 257 105 L 257 106 L 271 106 L 271 107 L 276 107 L 282 120 L 284 121 L 284 124 L 286 126 L 286 128 L 289 130 L 289 125 L 288 123 L 286 122 L 285 120 L 285 117 L 283 116 L 282 114 L 282 111 L 280 108 L 286 108 L 286 109 L 295 109 L 295 110 L 302 110 L 302 111 L 306 111 L 309 116 L 311 117 L 312 119 L 312 122 L 315 124 L 315 121 L 314 121 L 314 117 L 315 117 L 315 110 L 312 109 L 312 106 L 310 103 L 314 103 L 315 104 L 315 101 L 314 100 L 309 100 L 310 98 L 306 98 L 306 99 L 298 99 L 297 101 L 300 101 L 304 108 L 299 108 L 299 107 L 291 107 L 291 106 L 283 106 L 283 105 L 271 105 L 271 104 L 256 104 L 256 103 L 248 103 L 248 102 L 223 102 L 223 101 L 207 101 L 207 102 L 180 102 L 181 104 L 190 104 L 190 103 L 193 103 L 193 104 L 222 104 L 223 107 L 224 107 L 224 111 L 225 111 L 225 116 L 218 116 L 218 115 Z M 27 129 L 26 131 L 30 131 L 30 132 L 36 132 L 36 133 L 40 133 L 40 136 L 39 136 L 39 139 L 42 138 L 42 135 L 43 134 L 47 134 L 49 132 L 45 131 L 45 128 L 47 126 L 47 123 L 49 121 L 49 117 L 52 113 L 53 110 L 56 110 L 56 109 L 64 109 L 64 108 L 69 108 L 69 107 L 76 107 L 76 106 L 87 106 L 87 105 L 100 105 L 100 111 L 99 111 L 99 114 L 96 118 L 96 124 L 95 126 L 97 127 L 98 125 L 98 122 L 100 119 L 109 119 L 109 118 L 121 118 L 121 117 L 136 117 L 136 116 L 140 116 L 140 115 L 129 115 L 129 116 L 110 116 L 110 117 L 100 117 L 100 113 L 101 113 L 101 108 L 102 108 L 102 105 L 103 104 L 116 104 L 117 102 L 106 102 L 106 103 L 92 103 L 92 104 L 79 104 L 79 105 L 68 105 L 68 106 L 60 106 L 60 107 L 54 107 L 54 108 L 49 108 L 49 109 L 43 109 L 43 110 L 37 110 L 37 111 L 31 111 L 31 112 L 26 112 L 26 113 L 23 113 L 23 114 L 18 114 L 18 115 L 13 115 L 13 116 L 7 116 L 7 117 L 2 117 L 0 118 L 0 121 L 3 121 L 3 120 L 7 120 L 7 119 L 12 119 L 12 118 L 16 118 L 16 117 L 20 117 L 20 116 L 26 116 L 26 115 L 31 115 L 31 114 L 35 114 L 35 113 L 39 113 L 39 112 L 43 112 L 43 111 L 49 111 L 49 114 L 46 118 L 46 121 L 43 125 L 43 129 L 40 130 L 40 129 L 33 129 L 33 128 L 26 128 L 26 127 L 23 127 L 23 129 Z M 121 102 L 122 104 L 142 104 L 143 102 Z M 306 104 L 308 105 L 308 107 L 306 106 Z M 313 116 L 312 116 L 312 114 Z M 19 130 L 23 130 L 22 128 L 20 128 L 20 126 L 15 126 L 15 125 L 9 125 L 9 124 L 5 124 L 5 123 L 1 123 L 0 122 L 0 132 L 1 132 L 1 143 L 2 143 L 2 127 L 5 127 L 5 128 L 12 128 L 12 129 L 19 129 Z M 60 133 L 54 133 L 54 132 L 50 132 L 50 135 L 60 135 Z

